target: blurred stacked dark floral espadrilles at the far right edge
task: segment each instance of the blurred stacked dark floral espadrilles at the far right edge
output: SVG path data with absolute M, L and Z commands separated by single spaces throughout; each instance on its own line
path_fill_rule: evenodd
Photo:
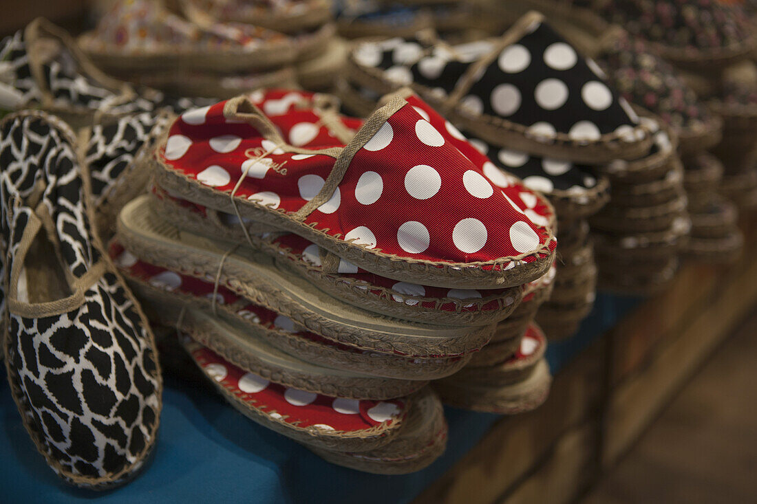
M 636 0 L 609 2 L 602 14 L 646 39 L 649 51 L 655 51 L 676 68 L 671 71 L 662 64 L 656 66 L 656 73 L 665 82 L 672 81 L 676 72 L 687 81 L 687 86 L 677 85 L 674 94 L 666 93 L 668 101 L 678 96 L 676 101 L 684 105 L 673 116 L 683 120 L 673 120 L 671 126 L 678 129 L 681 159 L 690 172 L 686 179 L 692 189 L 689 194 L 692 227 L 686 251 L 702 260 L 735 258 L 743 238 L 736 226 L 734 204 L 717 194 L 717 185 L 705 188 L 703 184 L 718 182 L 717 173 L 721 171 L 721 192 L 727 198 L 748 206 L 757 194 L 754 165 L 757 69 L 749 61 L 757 39 L 751 33 L 746 14 L 737 5 L 719 2 L 681 5 L 668 1 L 655 5 L 651 8 Z M 689 86 L 696 89 L 700 99 L 709 101 L 715 116 L 696 102 Z M 654 110 L 656 106 L 669 107 L 665 100 L 650 108 Z M 715 128 L 715 121 L 720 119 L 722 135 Z M 694 120 L 703 126 L 699 131 L 689 126 L 696 126 Z M 707 123 L 712 126 L 706 126 Z M 724 170 L 707 149 L 717 154 Z

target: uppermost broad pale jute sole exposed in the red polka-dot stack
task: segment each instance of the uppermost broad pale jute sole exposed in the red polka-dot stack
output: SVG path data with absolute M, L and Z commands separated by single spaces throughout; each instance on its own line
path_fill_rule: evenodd
M 463 356 L 486 344 L 494 325 L 452 328 L 378 316 L 329 297 L 286 275 L 265 254 L 229 254 L 223 244 L 182 232 L 149 208 L 148 197 L 127 204 L 118 221 L 118 241 L 148 263 L 220 285 L 247 297 L 309 331 L 354 347 L 404 356 Z

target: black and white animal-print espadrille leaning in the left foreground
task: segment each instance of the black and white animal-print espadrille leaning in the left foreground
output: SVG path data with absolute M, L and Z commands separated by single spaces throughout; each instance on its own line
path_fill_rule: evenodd
M 5 366 L 23 424 L 70 484 L 123 484 L 151 453 L 154 337 L 104 258 L 73 132 L 37 111 L 0 123 Z

